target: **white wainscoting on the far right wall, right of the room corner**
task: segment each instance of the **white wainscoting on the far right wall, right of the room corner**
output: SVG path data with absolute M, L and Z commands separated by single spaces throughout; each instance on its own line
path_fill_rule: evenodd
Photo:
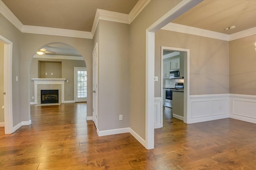
M 230 118 L 256 123 L 256 96 L 230 94 Z

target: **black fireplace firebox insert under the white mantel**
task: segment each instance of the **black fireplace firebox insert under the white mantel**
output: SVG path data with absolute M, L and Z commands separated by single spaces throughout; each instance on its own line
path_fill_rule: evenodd
M 41 90 L 41 104 L 59 103 L 59 90 Z

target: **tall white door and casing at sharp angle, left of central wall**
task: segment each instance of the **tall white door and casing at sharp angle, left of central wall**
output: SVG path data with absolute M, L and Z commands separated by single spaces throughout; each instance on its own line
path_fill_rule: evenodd
M 98 43 L 96 43 L 92 51 L 92 120 L 97 129 L 98 124 Z

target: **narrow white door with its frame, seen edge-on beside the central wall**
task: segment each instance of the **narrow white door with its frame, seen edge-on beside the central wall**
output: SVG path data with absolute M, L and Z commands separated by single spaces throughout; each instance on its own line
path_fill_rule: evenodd
M 96 129 L 98 128 L 98 43 L 96 43 L 93 51 L 92 51 L 92 64 L 94 64 L 94 51 L 96 51 L 96 72 L 94 71 L 94 67 L 92 65 L 92 90 L 94 90 L 94 80 L 96 81 L 96 95 L 92 94 L 92 120 L 94 121 L 94 125 Z M 94 77 L 95 76 L 95 77 Z M 94 97 L 94 95 L 96 97 Z M 98 133 L 98 129 L 97 129 Z

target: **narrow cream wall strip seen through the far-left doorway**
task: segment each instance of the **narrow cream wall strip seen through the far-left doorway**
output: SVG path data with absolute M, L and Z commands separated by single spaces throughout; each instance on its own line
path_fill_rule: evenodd
M 4 43 L 0 41 L 0 123 L 4 122 Z

